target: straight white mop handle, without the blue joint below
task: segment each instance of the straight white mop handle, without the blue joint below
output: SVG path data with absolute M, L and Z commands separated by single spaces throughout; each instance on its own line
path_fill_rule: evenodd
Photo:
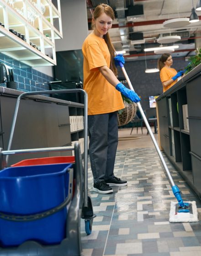
M 127 83 L 128 83 L 128 85 L 129 85 L 129 88 L 130 88 L 132 91 L 134 91 L 134 89 L 133 89 L 133 87 L 132 87 L 132 84 L 131 84 L 131 81 L 130 81 L 128 75 L 127 75 L 127 72 L 126 72 L 126 70 L 125 70 L 125 68 L 124 68 L 124 66 L 123 66 L 123 64 L 122 64 L 121 62 L 120 62 L 120 67 L 122 68 L 123 74 L 124 74 L 124 76 L 125 76 L 125 78 L 126 78 L 126 80 L 127 80 Z M 158 146 L 158 144 L 157 144 L 157 142 L 156 142 L 155 137 L 153 136 L 153 132 L 152 132 L 150 126 L 149 126 L 149 123 L 148 123 L 147 118 L 146 118 L 146 116 L 145 116 L 145 114 L 144 114 L 144 112 L 143 112 L 143 109 L 142 109 L 142 107 L 141 107 L 141 105 L 140 105 L 140 102 L 138 102 L 137 105 L 138 105 L 139 111 L 140 111 L 140 113 L 141 113 L 141 115 L 142 115 L 142 117 L 143 117 L 144 123 L 145 123 L 145 125 L 146 125 L 146 127 L 147 127 L 147 129 L 148 129 L 148 132 L 149 132 L 149 134 L 150 134 L 150 136 L 151 136 L 151 138 L 152 138 L 153 144 L 154 144 L 154 146 L 155 146 L 155 148 L 156 148 L 156 150 L 157 150 L 157 152 L 158 152 L 158 154 L 159 154 L 159 158 L 160 158 L 160 160 L 161 160 L 161 162 L 162 162 L 162 164 L 163 164 L 163 166 L 164 166 L 164 169 L 165 169 L 165 171 L 166 171 L 166 173 L 167 173 L 167 175 L 168 175 L 168 177 L 169 177 L 169 181 L 170 181 L 172 187 L 174 187 L 174 186 L 175 186 L 175 182 L 173 181 L 172 176 L 171 176 L 171 174 L 170 174 L 170 172 L 169 172 L 169 170 L 168 170 L 168 167 L 167 167 L 167 165 L 166 165 L 166 163 L 165 163 L 165 161 L 164 161 L 163 155 L 162 155 L 161 152 L 160 152 L 159 146 Z

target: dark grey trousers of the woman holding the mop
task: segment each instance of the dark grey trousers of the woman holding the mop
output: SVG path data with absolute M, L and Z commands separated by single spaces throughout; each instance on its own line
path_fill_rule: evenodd
M 94 183 L 114 177 L 114 165 L 118 144 L 117 111 L 90 115 L 90 163 Z

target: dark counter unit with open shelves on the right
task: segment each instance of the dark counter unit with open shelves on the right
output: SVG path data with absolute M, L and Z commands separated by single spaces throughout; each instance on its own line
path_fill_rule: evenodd
M 201 197 L 201 67 L 157 98 L 160 144 Z

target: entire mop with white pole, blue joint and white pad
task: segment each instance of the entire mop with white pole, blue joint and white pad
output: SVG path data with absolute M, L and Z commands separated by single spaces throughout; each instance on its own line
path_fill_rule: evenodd
M 129 88 L 134 91 L 131 81 L 127 75 L 127 72 L 123 66 L 123 64 L 121 62 L 119 62 L 120 67 L 122 68 L 123 74 L 127 80 L 127 83 L 129 85 Z M 172 176 L 168 170 L 168 167 L 164 161 L 163 155 L 160 152 L 159 146 L 156 142 L 156 139 L 153 136 L 152 130 L 149 126 L 149 123 L 147 121 L 147 118 L 143 112 L 143 109 L 140 105 L 140 103 L 137 103 L 138 105 L 138 109 L 143 117 L 144 123 L 148 129 L 148 132 L 152 138 L 153 144 L 159 154 L 159 158 L 164 166 L 164 169 L 169 177 L 169 181 L 171 183 L 172 186 L 172 192 L 174 193 L 176 199 L 178 202 L 171 202 L 170 204 L 170 212 L 169 212 L 169 222 L 196 222 L 198 221 L 198 214 L 197 214 L 197 207 L 196 207 L 196 201 L 192 201 L 192 202 L 183 202 L 183 199 L 181 198 L 180 195 L 180 190 L 179 187 L 177 187 L 175 185 L 175 182 L 172 179 Z

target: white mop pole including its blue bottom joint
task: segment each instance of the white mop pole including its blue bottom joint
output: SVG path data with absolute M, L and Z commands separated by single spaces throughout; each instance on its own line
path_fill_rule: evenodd
M 132 84 L 131 84 L 131 81 L 130 81 L 128 75 L 127 75 L 127 72 L 126 72 L 125 68 L 124 68 L 124 65 L 123 65 L 121 62 L 120 62 L 119 64 L 120 64 L 120 67 L 122 68 L 123 74 L 124 74 L 124 76 L 125 76 L 125 78 L 126 78 L 126 80 L 127 80 L 127 83 L 128 83 L 128 85 L 129 85 L 129 88 L 130 88 L 132 91 L 134 91 L 134 89 L 133 89 L 133 87 L 132 87 Z M 185 206 L 186 206 L 185 204 L 186 204 L 186 203 L 184 204 L 184 202 L 183 202 L 183 200 L 182 200 L 182 198 L 181 198 L 181 196 L 180 196 L 180 190 L 179 190 L 179 188 L 175 185 L 175 182 L 174 182 L 173 179 L 172 179 L 172 176 L 171 176 L 171 174 L 170 174 L 170 172 L 169 172 L 169 170 L 168 170 L 168 167 L 167 167 L 167 165 L 166 165 L 166 163 L 165 163 L 165 161 L 164 161 L 163 155 L 162 155 L 161 152 L 160 152 L 160 149 L 159 149 L 159 146 L 158 146 L 158 144 L 157 144 L 157 142 L 156 142 L 156 139 L 155 139 L 155 137 L 153 136 L 153 132 L 152 132 L 152 130 L 151 130 L 151 128 L 150 128 L 150 125 L 149 125 L 149 123 L 148 123 L 148 121 L 147 121 L 147 118 L 146 118 L 146 116 L 145 116 L 145 114 L 144 114 L 144 112 L 143 112 L 143 108 L 141 107 L 140 102 L 137 102 L 137 105 L 138 105 L 138 109 L 139 109 L 139 111 L 140 111 L 140 113 L 141 113 L 141 115 L 142 115 L 142 117 L 143 117 L 144 123 L 145 123 L 145 125 L 146 125 L 146 127 L 147 127 L 147 129 L 148 129 L 148 132 L 149 132 L 149 134 L 150 134 L 150 136 L 151 136 L 151 138 L 152 138 L 153 144 L 154 144 L 154 146 L 155 146 L 155 148 L 156 148 L 156 150 L 157 150 L 157 152 L 158 152 L 158 154 L 159 154 L 159 158 L 160 158 L 160 160 L 161 160 L 161 162 L 162 162 L 162 164 L 163 164 L 163 166 L 164 166 L 164 169 L 165 169 L 165 171 L 166 171 L 166 173 L 167 173 L 167 175 L 168 175 L 168 177 L 169 177 L 169 181 L 170 181 L 170 183 L 171 183 L 171 185 L 172 185 L 172 191 L 173 191 L 175 197 L 177 198 L 180 207 L 185 208 Z

